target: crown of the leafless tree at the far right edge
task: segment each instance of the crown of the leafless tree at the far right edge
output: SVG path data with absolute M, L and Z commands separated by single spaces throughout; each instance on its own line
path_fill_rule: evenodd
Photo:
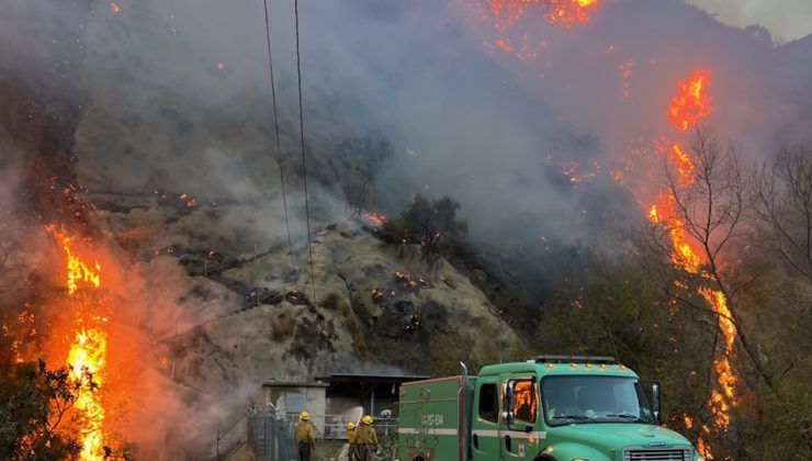
M 764 166 L 753 188 L 765 241 L 798 274 L 812 281 L 812 150 L 785 147 Z

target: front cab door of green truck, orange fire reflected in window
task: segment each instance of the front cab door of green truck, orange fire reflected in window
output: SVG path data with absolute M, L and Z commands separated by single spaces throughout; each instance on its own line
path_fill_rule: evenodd
M 532 373 L 503 376 L 499 450 L 505 460 L 532 460 L 539 452 L 539 382 Z

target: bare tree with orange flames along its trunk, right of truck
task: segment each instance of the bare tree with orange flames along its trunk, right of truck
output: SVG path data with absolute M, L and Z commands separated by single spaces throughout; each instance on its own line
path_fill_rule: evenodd
M 753 206 L 745 168 L 732 145 L 722 146 L 707 128 L 701 127 L 696 131 L 686 159 L 689 160 L 688 166 L 674 161 L 667 165 L 665 192 L 652 207 L 650 217 L 666 229 L 668 236 L 667 241 L 658 240 L 655 248 L 690 276 L 664 286 L 672 296 L 688 305 L 703 311 L 710 306 L 717 318 L 713 346 L 715 382 L 708 402 L 713 426 L 720 432 L 728 431 L 731 412 L 738 405 L 742 386 L 746 384 L 736 372 L 734 358 L 737 349 L 744 351 L 757 381 L 777 397 L 787 417 L 794 419 L 774 373 L 764 364 L 763 350 L 745 334 L 738 305 L 741 290 L 754 281 L 754 278 L 740 280 L 733 267 L 740 260 L 738 250 L 746 231 L 749 231 L 744 216 Z M 697 296 L 690 294 L 689 284 L 700 295 L 698 299 L 706 303 L 698 302 Z M 704 425 L 702 430 L 711 431 Z M 701 450 L 701 439 L 699 446 Z

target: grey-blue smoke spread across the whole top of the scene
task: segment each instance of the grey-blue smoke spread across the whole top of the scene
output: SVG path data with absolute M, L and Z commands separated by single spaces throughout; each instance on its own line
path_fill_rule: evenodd
M 80 178 L 105 192 L 166 189 L 278 209 L 261 2 L 116 4 L 2 7 L 12 23 L 2 47 L 14 58 L 3 67 L 41 89 L 63 82 L 50 98 L 66 85 L 86 95 Z M 283 169 L 301 195 L 293 4 L 269 8 Z M 625 187 L 656 189 L 652 143 L 687 139 L 666 108 L 691 71 L 711 71 L 708 123 L 745 156 L 810 136 L 809 43 L 777 48 L 765 29 L 729 27 L 678 0 L 601 2 L 571 29 L 544 13 L 544 2 L 531 4 L 497 31 L 474 0 L 301 2 L 313 173 L 325 177 L 318 168 L 337 139 L 375 131 L 394 155 L 376 171 L 370 206 L 394 213 L 416 193 L 449 194 L 476 239 L 574 240 L 639 214 Z M 623 184 L 612 184 L 618 171 Z M 340 218 L 331 184 L 314 188 L 324 220 Z M 607 203 L 621 215 L 590 215 Z

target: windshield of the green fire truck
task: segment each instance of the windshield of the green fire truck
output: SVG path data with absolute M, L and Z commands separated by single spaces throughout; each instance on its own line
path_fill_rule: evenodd
M 636 378 L 546 376 L 541 381 L 550 426 L 594 423 L 656 424 Z

